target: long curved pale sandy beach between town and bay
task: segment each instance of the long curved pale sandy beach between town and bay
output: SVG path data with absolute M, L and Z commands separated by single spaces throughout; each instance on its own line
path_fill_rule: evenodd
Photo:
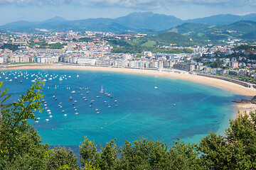
M 63 64 L 49 64 L 49 65 L 21 65 L 18 67 L 3 67 L 1 70 L 10 69 L 73 69 L 73 70 L 94 70 L 102 72 L 124 72 L 130 74 L 147 74 L 159 77 L 170 77 L 174 79 L 183 79 L 187 81 L 195 81 L 202 84 L 208 84 L 210 86 L 220 87 L 222 89 L 233 91 L 235 94 L 242 96 L 255 96 L 256 89 L 247 88 L 239 84 L 234 84 L 229 81 L 224 81 L 221 79 L 213 79 L 210 77 L 202 77 L 198 75 L 191 75 L 188 73 L 179 74 L 176 72 L 158 72 L 156 70 L 149 69 L 127 69 L 127 68 L 114 68 L 114 67 L 90 67 L 90 66 L 78 66 L 78 65 L 63 65 Z M 236 105 L 237 111 L 240 113 L 249 113 L 249 111 L 255 111 L 256 105 L 254 104 L 243 104 L 239 103 Z M 238 113 L 238 112 L 237 112 Z

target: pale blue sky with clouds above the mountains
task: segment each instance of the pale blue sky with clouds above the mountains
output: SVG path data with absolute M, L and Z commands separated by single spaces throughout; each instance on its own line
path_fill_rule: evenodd
M 0 0 L 0 25 L 14 21 L 118 18 L 152 11 L 183 20 L 218 14 L 256 13 L 256 0 Z

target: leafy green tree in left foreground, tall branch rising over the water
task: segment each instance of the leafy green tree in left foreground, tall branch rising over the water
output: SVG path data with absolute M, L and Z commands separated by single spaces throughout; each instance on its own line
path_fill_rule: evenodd
M 42 144 L 27 120 L 36 120 L 36 111 L 41 112 L 40 94 L 43 81 L 39 80 L 20 96 L 18 101 L 8 103 L 11 95 L 1 90 L 0 81 L 0 169 L 78 169 L 77 159 L 65 148 L 49 149 Z

